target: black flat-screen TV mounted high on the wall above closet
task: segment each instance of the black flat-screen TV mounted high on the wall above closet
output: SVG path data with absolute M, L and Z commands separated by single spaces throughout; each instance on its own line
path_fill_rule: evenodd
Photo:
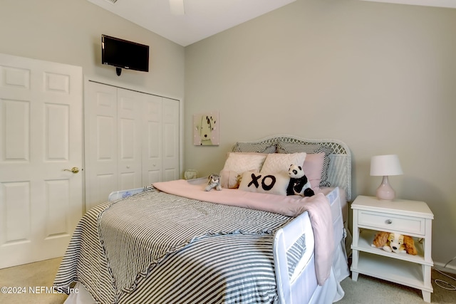
M 149 46 L 101 35 L 101 62 L 117 68 L 149 71 Z

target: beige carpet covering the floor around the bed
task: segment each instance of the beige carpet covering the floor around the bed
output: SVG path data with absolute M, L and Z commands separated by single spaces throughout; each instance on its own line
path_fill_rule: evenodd
M 0 270 L 0 286 L 26 288 L 23 294 L 0 293 L 0 303 L 38 303 L 38 304 L 61 304 L 65 301 L 66 295 L 58 293 L 46 293 L 51 288 L 53 278 L 61 258 L 54 258 L 48 261 L 26 264 Z M 455 275 L 452 275 L 453 277 Z M 456 291 L 445 290 L 435 285 L 436 278 L 456 285 L 456 282 L 447 278 L 437 271 L 432 270 L 432 285 L 434 293 L 431 295 L 432 303 L 456 303 Z M 345 297 L 338 301 L 338 304 L 415 304 L 425 303 L 421 291 L 404 287 L 395 283 L 381 281 L 368 276 L 360 275 L 357 282 L 346 278 L 341 283 L 345 290 Z M 42 293 L 29 293 L 29 287 Z

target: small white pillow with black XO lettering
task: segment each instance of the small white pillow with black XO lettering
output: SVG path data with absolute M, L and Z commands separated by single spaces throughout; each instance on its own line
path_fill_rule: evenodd
M 286 195 L 289 183 L 290 177 L 288 174 L 244 172 L 241 184 L 239 184 L 239 190 Z

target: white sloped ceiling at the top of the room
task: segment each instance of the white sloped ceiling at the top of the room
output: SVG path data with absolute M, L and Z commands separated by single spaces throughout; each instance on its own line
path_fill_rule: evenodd
M 188 46 L 296 0 L 88 0 L 113 14 Z M 113 1 L 115 3 L 113 3 Z M 170 1 L 184 3 L 172 14 Z M 456 8 L 456 0 L 364 0 Z

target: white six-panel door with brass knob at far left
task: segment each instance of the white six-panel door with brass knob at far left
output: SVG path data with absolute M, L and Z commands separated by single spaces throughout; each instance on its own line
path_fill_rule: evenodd
M 0 268 L 63 256 L 83 211 L 82 68 L 0 54 Z

